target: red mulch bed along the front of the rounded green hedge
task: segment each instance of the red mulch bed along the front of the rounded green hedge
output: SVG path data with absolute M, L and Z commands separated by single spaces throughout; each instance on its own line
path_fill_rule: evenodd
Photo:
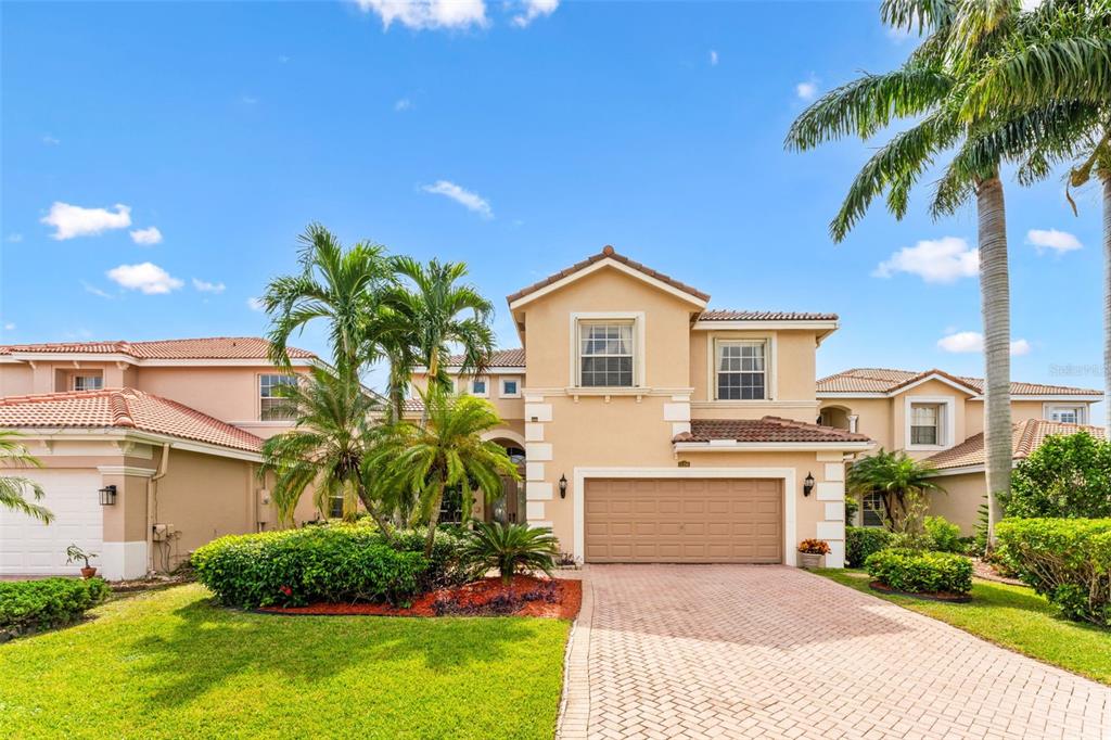
M 369 614 L 377 617 L 544 617 L 574 619 L 582 606 L 582 581 L 514 576 L 510 587 L 500 578 L 424 593 L 409 607 L 387 603 L 314 603 L 308 607 L 266 607 L 274 614 Z

